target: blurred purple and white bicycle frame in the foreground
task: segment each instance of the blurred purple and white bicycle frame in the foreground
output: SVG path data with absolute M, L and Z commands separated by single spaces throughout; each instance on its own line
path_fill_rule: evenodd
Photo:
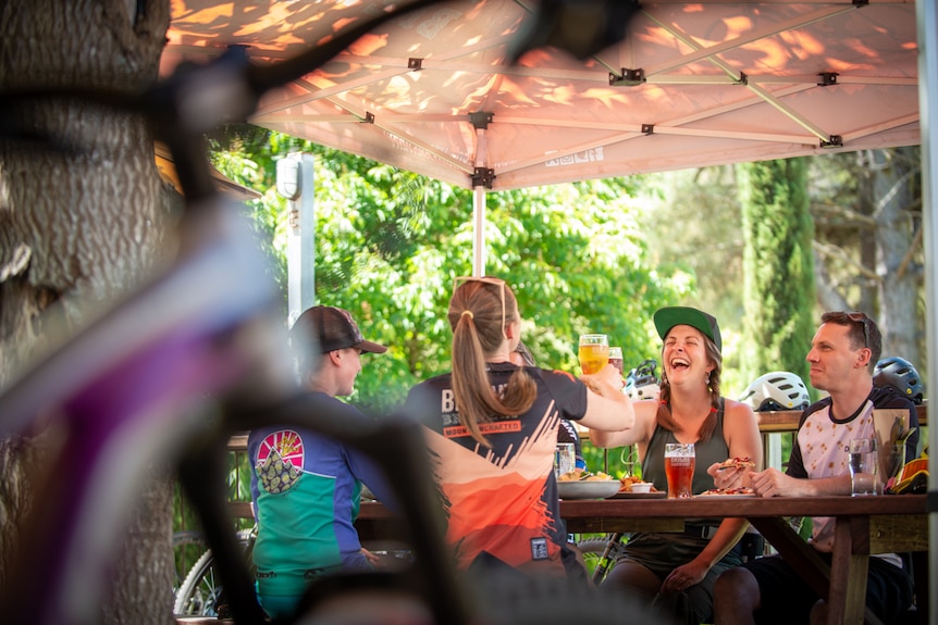
M 269 67 L 251 65 L 243 50 L 233 49 L 207 65 L 182 67 L 139 97 L 81 89 L 0 93 L 4 110 L 36 98 L 77 97 L 149 116 L 170 148 L 186 198 L 178 261 L 0 397 L 0 435 L 33 436 L 48 427 L 61 441 L 48 471 L 33 476 L 38 495 L 11 567 L 16 573 L 0 597 L 5 617 L 97 622 L 113 537 L 121 535 L 150 463 L 169 459 L 180 466 L 223 583 L 233 590 L 233 615 L 262 622 L 252 583 L 236 558 L 223 479 L 208 476 L 213 451 L 224 448 L 233 430 L 277 421 L 338 436 L 375 457 L 397 488 L 416 550 L 433 568 L 423 577 L 436 618 L 466 621 L 466 604 L 435 542 L 441 534 L 433 498 L 420 487 L 429 472 L 420 464 L 416 424 L 391 420 L 377 432 L 363 423 L 340 426 L 325 407 L 311 405 L 284 383 L 291 375 L 274 290 L 246 224 L 214 190 L 202 137 L 223 120 L 245 118 L 262 93 L 319 67 L 377 25 L 435 1 L 362 18 Z M 208 120 L 185 114 L 207 105 L 214 113 Z M 212 412 L 220 418 L 207 418 Z M 403 465 L 397 453 L 382 453 L 390 441 L 410 452 Z

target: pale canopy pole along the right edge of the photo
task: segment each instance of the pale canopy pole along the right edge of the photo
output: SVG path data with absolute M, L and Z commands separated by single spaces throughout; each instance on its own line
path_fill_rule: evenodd
M 938 389 L 938 220 L 933 184 L 938 180 L 938 8 L 935 2 L 916 2 L 916 26 L 918 30 L 918 110 L 922 128 L 922 201 L 925 228 L 925 329 L 928 354 L 928 388 Z M 929 98 L 930 93 L 930 98 Z M 928 414 L 931 404 L 928 402 Z M 929 420 L 930 421 L 930 420 Z M 938 450 L 938 427 L 928 428 L 928 448 L 931 454 Z M 929 454 L 929 455 L 931 455 Z M 938 483 L 935 467 L 928 477 L 928 596 L 938 597 Z M 938 607 L 929 602 L 929 623 L 938 623 Z

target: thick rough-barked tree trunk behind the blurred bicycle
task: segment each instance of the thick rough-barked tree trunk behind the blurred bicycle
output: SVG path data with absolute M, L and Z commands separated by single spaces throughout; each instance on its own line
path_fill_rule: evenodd
M 169 0 L 2 1 L 0 88 L 138 90 L 158 76 L 169 13 Z M 164 225 L 143 120 L 72 100 L 17 113 L 18 132 L 69 150 L 0 137 L 0 383 L 137 284 Z M 0 586 L 34 496 L 28 467 L 41 452 L 37 440 L 0 442 Z M 132 520 L 102 622 L 169 621 L 171 523 L 170 480 L 160 473 Z

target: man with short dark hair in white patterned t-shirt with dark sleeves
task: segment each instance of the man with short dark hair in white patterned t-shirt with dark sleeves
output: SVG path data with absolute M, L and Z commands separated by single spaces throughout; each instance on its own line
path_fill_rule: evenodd
M 873 385 L 881 336 L 876 323 L 860 312 L 828 312 L 814 335 L 807 362 L 811 384 L 829 397 L 801 415 L 798 435 L 785 473 L 767 468 L 752 473 L 761 497 L 850 495 L 848 446 L 853 438 L 874 436 L 874 409 L 906 409 L 910 426 L 918 425 L 915 405 L 892 387 Z M 906 440 L 906 458 L 915 458 L 918 435 Z M 748 470 L 725 479 L 742 479 Z M 723 478 L 723 476 L 720 476 Z M 723 486 L 723 485 L 720 485 Z M 830 562 L 834 518 L 812 518 L 810 543 Z M 885 623 L 892 623 L 912 603 L 910 572 L 896 553 L 869 559 L 866 605 Z M 714 586 L 717 625 L 738 623 L 823 623 L 827 604 L 803 576 L 781 557 L 753 560 L 725 571 Z

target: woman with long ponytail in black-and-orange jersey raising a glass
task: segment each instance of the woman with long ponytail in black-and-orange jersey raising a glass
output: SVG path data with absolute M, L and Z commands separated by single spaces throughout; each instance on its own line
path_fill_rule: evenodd
M 521 317 L 498 278 L 456 278 L 447 316 L 452 372 L 414 387 L 405 410 L 424 418 L 457 567 L 587 583 L 559 514 L 557 430 L 561 418 L 596 430 L 632 427 L 621 374 L 608 365 L 580 379 L 514 364 Z

